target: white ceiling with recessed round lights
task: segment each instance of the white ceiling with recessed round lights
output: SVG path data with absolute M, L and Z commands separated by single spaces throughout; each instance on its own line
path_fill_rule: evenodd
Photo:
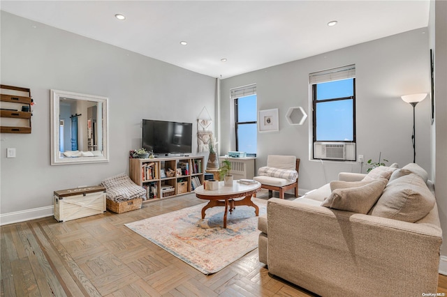
M 0 8 L 226 78 L 425 27 L 430 1 L 2 0 Z

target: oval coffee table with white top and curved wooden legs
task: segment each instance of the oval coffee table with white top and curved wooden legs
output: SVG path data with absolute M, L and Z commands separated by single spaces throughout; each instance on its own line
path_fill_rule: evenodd
M 253 206 L 254 213 L 256 216 L 259 215 L 258 206 L 251 201 L 251 196 L 256 192 L 259 192 L 259 190 L 261 190 L 261 183 L 258 183 L 257 181 L 251 185 L 244 185 L 243 183 L 233 181 L 232 187 L 224 186 L 223 181 L 219 181 L 219 188 L 217 190 L 205 190 L 203 185 L 200 185 L 194 192 L 196 193 L 197 198 L 210 200 L 210 202 L 202 208 L 202 219 L 205 218 L 205 211 L 208 208 L 225 206 L 225 213 L 223 213 L 223 228 L 226 228 L 226 215 L 228 211 L 232 213 L 236 206 Z M 236 198 L 241 197 L 244 198 L 235 200 Z

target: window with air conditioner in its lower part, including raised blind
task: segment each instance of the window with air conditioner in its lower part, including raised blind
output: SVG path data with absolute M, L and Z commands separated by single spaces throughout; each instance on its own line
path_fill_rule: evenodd
M 350 147 L 354 149 L 350 148 L 350 153 L 345 151 L 337 159 L 356 160 L 355 70 L 355 66 L 346 66 L 309 76 L 312 84 L 314 158 L 326 158 L 324 153 L 316 152 L 317 148 L 321 148 L 321 142 L 340 142 L 335 145 L 342 147 L 340 145 L 343 143 L 351 143 Z

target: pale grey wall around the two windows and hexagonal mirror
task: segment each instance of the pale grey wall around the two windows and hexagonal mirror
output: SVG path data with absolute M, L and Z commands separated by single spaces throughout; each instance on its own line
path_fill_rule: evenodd
M 256 83 L 258 110 L 279 108 L 279 132 L 258 133 L 257 167 L 265 165 L 269 154 L 296 155 L 301 159 L 302 190 L 332 181 L 342 171 L 359 172 L 357 162 L 309 160 L 309 139 L 312 139 L 309 73 L 356 64 L 357 154 L 376 161 L 381 152 L 382 158 L 401 166 L 413 162 L 413 110 L 400 96 L 430 92 L 428 35 L 427 28 L 417 29 L 222 79 L 222 153 L 235 149 L 230 89 Z M 303 107 L 309 114 L 304 125 L 288 125 L 286 121 L 288 108 L 295 106 Z M 432 172 L 430 110 L 430 99 L 416 107 L 416 162 L 427 172 Z

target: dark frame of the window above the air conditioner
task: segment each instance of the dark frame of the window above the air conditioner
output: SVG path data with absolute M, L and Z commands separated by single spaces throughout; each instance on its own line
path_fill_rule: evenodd
M 316 142 L 346 142 L 346 143 L 354 143 L 356 144 L 357 136 L 356 136 L 356 77 L 351 77 L 347 79 L 353 79 L 353 96 L 349 97 L 340 97 L 340 98 L 330 98 L 330 99 L 323 99 L 323 100 L 316 100 L 316 85 L 317 84 L 323 84 L 324 82 L 317 82 L 312 84 L 312 144 L 315 144 Z M 339 79 L 344 80 L 344 79 Z M 330 82 L 330 81 L 327 81 Z M 319 103 L 324 102 L 334 102 L 334 101 L 341 101 L 341 100 L 353 100 L 353 140 L 316 140 L 316 105 Z

